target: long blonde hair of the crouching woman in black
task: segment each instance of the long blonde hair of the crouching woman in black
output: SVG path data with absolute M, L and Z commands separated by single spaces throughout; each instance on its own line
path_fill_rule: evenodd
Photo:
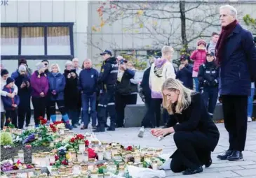
M 162 85 L 162 94 L 163 90 L 169 91 L 179 91 L 179 96 L 177 97 L 177 102 L 175 103 L 175 108 L 173 107 L 173 103 L 166 100 L 166 96 L 163 95 L 163 107 L 168 110 L 169 114 L 182 113 L 182 110 L 185 110 L 189 107 L 191 103 L 191 93 L 193 92 L 191 89 L 188 89 L 183 86 L 180 80 L 174 78 L 168 78 Z

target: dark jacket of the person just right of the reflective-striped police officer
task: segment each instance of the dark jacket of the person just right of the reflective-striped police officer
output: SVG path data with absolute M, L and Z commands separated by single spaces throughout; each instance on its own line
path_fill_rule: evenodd
M 121 76 L 121 82 L 116 81 L 116 92 L 121 95 L 129 95 L 131 93 L 130 79 L 134 77 L 135 72 L 126 69 L 126 71 L 119 71 L 119 75 L 121 72 L 123 72 L 123 76 Z

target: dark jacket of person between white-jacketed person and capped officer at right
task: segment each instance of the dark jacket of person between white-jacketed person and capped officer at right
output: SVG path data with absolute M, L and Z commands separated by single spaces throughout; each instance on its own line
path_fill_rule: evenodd
M 177 71 L 176 78 L 182 82 L 184 87 L 193 89 L 193 77 L 192 77 L 193 67 L 187 64 L 181 70 Z

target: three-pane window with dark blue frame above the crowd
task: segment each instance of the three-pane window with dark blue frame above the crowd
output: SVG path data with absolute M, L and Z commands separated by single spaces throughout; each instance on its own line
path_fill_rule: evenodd
M 74 23 L 1 23 L 1 59 L 72 59 Z

